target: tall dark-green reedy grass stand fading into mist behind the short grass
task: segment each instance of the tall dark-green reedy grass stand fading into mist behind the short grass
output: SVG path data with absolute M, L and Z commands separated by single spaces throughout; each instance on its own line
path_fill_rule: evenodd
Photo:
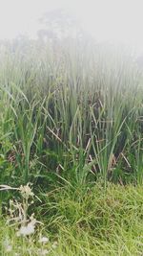
M 74 40 L 1 46 L 1 182 L 56 174 L 142 183 L 142 92 L 122 49 Z

